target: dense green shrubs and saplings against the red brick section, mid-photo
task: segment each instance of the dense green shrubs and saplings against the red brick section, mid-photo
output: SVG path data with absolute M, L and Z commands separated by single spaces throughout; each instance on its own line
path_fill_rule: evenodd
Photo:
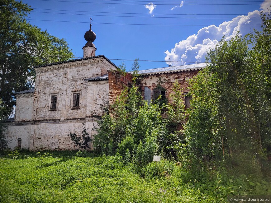
M 135 60 L 131 88 L 126 88 L 110 107 L 110 114 L 105 114 L 98 122 L 97 134 L 94 137 L 94 148 L 104 154 L 118 152 L 126 162 L 136 161 L 146 164 L 152 161 L 153 155 L 164 157 L 176 156 L 174 146 L 180 143 L 180 132 L 177 125 L 184 120 L 183 93 L 178 82 L 174 83 L 170 94 L 171 104 L 162 107 L 156 103 L 144 101 L 136 85 L 136 72 L 139 64 Z M 168 119 L 162 119 L 161 109 L 168 109 Z M 170 128 L 170 130 L 169 130 Z M 129 153 L 128 153 L 129 152 Z

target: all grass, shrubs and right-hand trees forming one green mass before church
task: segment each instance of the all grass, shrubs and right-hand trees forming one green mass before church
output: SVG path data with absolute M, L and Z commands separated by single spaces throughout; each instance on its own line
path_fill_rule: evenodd
M 229 196 L 269 195 L 271 30 L 269 16 L 262 20 L 261 32 L 223 38 L 208 51 L 208 66 L 191 81 L 188 110 L 178 81 L 167 102 L 144 101 L 135 60 L 131 88 L 98 123 L 96 154 L 4 154 L 0 201 L 227 202 Z M 70 136 L 88 147 L 85 128 Z M 153 155 L 161 162 L 152 162 Z

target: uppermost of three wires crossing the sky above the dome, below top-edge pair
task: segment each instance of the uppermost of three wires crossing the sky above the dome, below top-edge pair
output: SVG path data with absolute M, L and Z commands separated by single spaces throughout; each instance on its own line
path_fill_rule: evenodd
M 136 14 L 136 15 L 150 15 L 149 13 L 120 13 L 120 12 L 97 12 L 97 11 L 74 11 L 74 10 L 59 10 L 59 9 L 46 9 L 46 8 L 33 8 L 37 10 L 50 10 L 50 11 L 71 11 L 71 12 L 87 12 L 87 13 L 112 13 L 112 14 Z M 170 13 L 151 13 L 152 15 L 234 15 L 234 16 L 242 16 L 242 15 L 247 15 L 246 14 L 181 14 L 181 13 L 175 13 L 175 14 L 170 14 Z M 250 15 L 259 15 L 258 13 L 251 13 Z

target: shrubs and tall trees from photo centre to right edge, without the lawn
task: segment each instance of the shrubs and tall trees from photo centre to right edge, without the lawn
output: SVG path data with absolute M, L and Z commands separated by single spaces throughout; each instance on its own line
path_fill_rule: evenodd
M 262 14 L 261 32 L 254 30 L 228 41 L 222 38 L 209 50 L 208 66 L 191 80 L 193 99 L 187 111 L 177 81 L 168 102 L 161 105 L 157 99 L 147 104 L 138 93 L 135 76 L 132 87 L 121 93 L 99 122 L 95 149 L 120 155 L 128 166 L 147 167 L 152 176 L 163 173 L 167 177 L 170 170 L 158 172 L 152 168 L 155 163 L 150 163 L 153 155 L 161 155 L 179 163 L 179 170 L 187 171 L 190 178 L 193 173 L 189 180 L 193 186 L 205 192 L 213 188 L 218 196 L 224 191 L 225 196 L 267 194 L 270 33 L 269 16 Z M 180 125 L 184 130 L 178 131 Z M 251 177 L 260 181 L 251 181 Z M 256 186 L 250 193 L 249 188 Z

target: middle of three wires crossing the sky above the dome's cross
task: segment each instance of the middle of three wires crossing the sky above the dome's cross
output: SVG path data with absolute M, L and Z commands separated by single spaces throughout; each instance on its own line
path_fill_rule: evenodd
M 57 13 L 57 12 L 40 12 L 40 11 L 31 11 L 35 13 L 54 13 L 54 14 L 66 14 L 66 15 L 81 15 L 81 16 L 89 16 L 89 14 L 78 14 L 78 13 Z M 157 17 L 157 16 L 111 16 L 111 15 L 97 15 L 91 14 L 92 16 L 107 16 L 107 17 L 132 17 L 132 18 L 191 18 L 191 19 L 260 19 L 258 18 L 245 18 L 245 17 L 235 17 L 235 18 L 222 18 L 222 17 Z

